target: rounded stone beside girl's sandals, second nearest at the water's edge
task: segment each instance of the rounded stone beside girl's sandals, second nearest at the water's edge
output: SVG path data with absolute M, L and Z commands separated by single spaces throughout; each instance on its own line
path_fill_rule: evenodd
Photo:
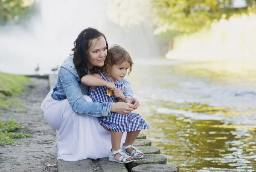
M 132 168 L 142 164 L 166 164 L 167 158 L 164 155 L 144 154 L 144 158 L 136 159 L 131 163 L 126 164 L 126 168 L 130 172 Z

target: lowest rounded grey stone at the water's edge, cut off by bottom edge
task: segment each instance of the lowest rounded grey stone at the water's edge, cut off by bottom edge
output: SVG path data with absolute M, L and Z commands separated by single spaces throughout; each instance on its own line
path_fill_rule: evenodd
M 179 172 L 179 168 L 170 164 L 143 164 L 132 168 L 131 172 Z

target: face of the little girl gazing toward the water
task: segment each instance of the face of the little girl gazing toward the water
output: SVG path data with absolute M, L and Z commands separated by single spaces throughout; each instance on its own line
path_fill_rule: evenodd
M 109 79 L 111 79 L 113 82 L 116 80 L 121 81 L 125 77 L 130 65 L 131 63 L 129 62 L 123 62 L 120 65 L 113 65 L 110 70 Z

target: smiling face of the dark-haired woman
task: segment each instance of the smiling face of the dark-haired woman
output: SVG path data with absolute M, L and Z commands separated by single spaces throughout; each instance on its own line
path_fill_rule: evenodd
M 91 46 L 87 56 L 88 69 L 94 66 L 103 66 L 107 56 L 107 45 L 104 37 L 99 37 L 91 40 Z

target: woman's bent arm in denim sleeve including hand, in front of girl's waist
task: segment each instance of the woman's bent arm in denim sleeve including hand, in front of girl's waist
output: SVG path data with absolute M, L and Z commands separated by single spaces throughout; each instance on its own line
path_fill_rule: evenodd
M 96 103 L 86 102 L 81 92 L 81 87 L 75 76 L 76 70 L 68 65 L 61 66 L 59 76 L 61 85 L 66 93 L 66 97 L 72 110 L 81 115 L 94 117 L 111 116 L 111 112 L 120 114 L 130 113 L 134 109 L 133 104 L 118 103 Z

